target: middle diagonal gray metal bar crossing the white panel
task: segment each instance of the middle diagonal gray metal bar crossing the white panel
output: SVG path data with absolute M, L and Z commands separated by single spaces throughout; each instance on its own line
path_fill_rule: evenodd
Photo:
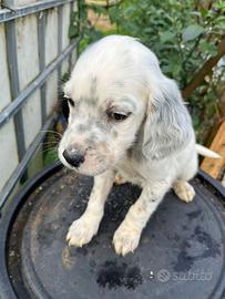
M 68 58 L 68 55 L 78 47 L 78 40 L 69 45 L 60 56 L 58 56 L 50 65 L 48 65 L 43 72 L 37 76 L 37 79 L 25 89 L 23 90 L 14 101 L 7 106 L 2 112 L 0 112 L 0 127 L 7 123 L 25 103 L 25 100 L 29 95 L 31 95 L 38 87 L 40 87 L 48 76 L 57 69 L 59 68 L 59 64 Z

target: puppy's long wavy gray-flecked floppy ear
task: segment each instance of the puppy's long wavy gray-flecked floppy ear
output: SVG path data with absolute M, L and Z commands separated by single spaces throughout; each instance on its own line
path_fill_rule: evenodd
M 174 81 L 163 78 L 149 99 L 142 153 L 162 159 L 183 148 L 193 134 L 190 114 Z

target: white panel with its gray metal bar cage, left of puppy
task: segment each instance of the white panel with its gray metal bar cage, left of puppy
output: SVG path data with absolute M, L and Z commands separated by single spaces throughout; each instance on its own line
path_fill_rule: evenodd
M 9 0 L 2 8 L 0 207 L 51 126 L 59 82 L 76 58 L 76 41 L 71 42 L 68 34 L 76 1 Z M 29 169 L 29 173 L 34 172 Z

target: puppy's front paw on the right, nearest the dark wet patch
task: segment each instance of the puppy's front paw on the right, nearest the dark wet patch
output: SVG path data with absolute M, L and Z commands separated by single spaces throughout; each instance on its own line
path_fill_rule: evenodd
M 113 245 L 116 254 L 125 256 L 129 252 L 133 252 L 139 246 L 141 233 L 135 225 L 129 225 L 124 220 L 113 236 Z

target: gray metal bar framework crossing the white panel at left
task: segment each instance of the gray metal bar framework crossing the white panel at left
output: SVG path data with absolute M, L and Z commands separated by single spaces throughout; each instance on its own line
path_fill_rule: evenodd
M 52 125 L 54 121 L 54 113 L 48 113 L 47 103 L 47 81 L 51 74 L 58 72 L 58 82 L 62 78 L 62 63 L 65 60 L 71 64 L 72 54 L 76 49 L 78 41 L 73 41 L 65 49 L 62 49 L 62 32 L 63 30 L 63 7 L 65 4 L 70 6 L 71 13 L 74 10 L 74 0 L 48 0 L 41 2 L 34 2 L 33 4 L 14 8 L 12 10 L 3 9 L 0 10 L 0 25 L 3 23 L 6 31 L 6 42 L 7 42 L 7 58 L 8 58 L 8 71 L 9 71 L 9 82 L 11 92 L 11 102 L 0 112 L 0 134 L 1 128 L 3 128 L 8 122 L 13 120 L 16 140 L 17 140 L 17 151 L 19 163 L 16 169 L 12 172 L 8 182 L 4 184 L 3 188 L 0 190 L 0 209 L 6 203 L 7 198 L 12 193 L 14 186 L 22 177 L 27 169 L 29 161 L 34 155 L 40 143 L 45 136 L 45 131 Z M 45 13 L 49 10 L 57 8 L 58 16 L 58 54 L 57 58 L 49 64 L 45 63 Z M 21 90 L 18 71 L 18 53 L 17 53 L 17 34 L 16 34 L 16 21 L 18 18 L 35 16 L 38 25 L 38 52 L 39 52 L 39 74 L 24 87 Z M 67 18 L 70 18 L 70 16 Z M 69 28 L 67 29 L 69 30 Z M 24 68 L 30 68 L 31 65 L 24 65 Z M 31 66 L 32 68 L 32 66 Z M 1 75 L 1 74 L 0 74 Z M 1 80 L 1 79 L 0 79 Z M 40 91 L 40 103 L 41 103 L 41 123 L 42 127 L 39 133 L 33 137 L 32 143 L 29 147 L 25 146 L 25 135 L 24 135 L 24 124 L 22 117 L 22 111 L 25 103 L 31 101 L 31 95 L 34 91 Z M 1 91 L 0 91 L 1 92 Z M 57 100 L 57 99 L 55 99 Z M 33 120 L 34 122 L 35 120 Z M 1 158 L 1 157 L 0 157 Z M 10 158 L 10 157 L 9 157 Z M 3 169 L 0 169 L 0 173 Z

